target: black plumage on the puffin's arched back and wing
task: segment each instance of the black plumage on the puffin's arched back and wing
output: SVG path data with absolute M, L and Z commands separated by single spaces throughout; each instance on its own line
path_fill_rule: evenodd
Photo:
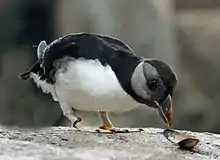
M 88 33 L 69 34 L 47 46 L 42 59 L 39 60 L 40 68 L 39 62 L 36 63 L 40 72 L 36 69 L 29 71 L 37 73 L 41 80 L 53 84 L 56 72 L 54 62 L 68 56 L 75 59 L 98 59 L 103 66 L 109 65 L 116 76 L 124 80 L 130 79 L 127 76 L 132 75 L 133 69 L 141 61 L 131 48 L 118 39 Z M 123 70 L 125 67 L 126 73 Z

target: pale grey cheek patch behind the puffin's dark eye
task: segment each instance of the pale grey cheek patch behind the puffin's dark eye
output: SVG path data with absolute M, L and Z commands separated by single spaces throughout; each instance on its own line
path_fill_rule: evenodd
M 143 74 L 143 62 L 141 62 L 134 70 L 131 78 L 131 86 L 134 92 L 144 99 L 150 98 L 150 90 L 147 87 L 147 81 Z

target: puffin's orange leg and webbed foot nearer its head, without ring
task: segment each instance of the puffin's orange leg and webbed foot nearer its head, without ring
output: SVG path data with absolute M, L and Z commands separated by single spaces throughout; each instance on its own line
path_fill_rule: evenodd
M 114 125 L 111 123 L 108 113 L 106 111 L 99 111 L 99 115 L 102 119 L 103 125 L 100 126 L 100 130 L 97 130 L 97 132 L 116 132 L 116 133 L 128 133 L 128 132 L 140 132 L 142 129 L 121 129 L 121 128 L 116 128 Z

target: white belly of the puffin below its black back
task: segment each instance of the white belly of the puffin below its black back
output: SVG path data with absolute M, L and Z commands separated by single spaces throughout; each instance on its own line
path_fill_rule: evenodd
M 120 86 L 109 66 L 97 60 L 70 61 L 67 69 L 56 73 L 51 91 L 54 99 L 77 110 L 127 111 L 138 107 Z

